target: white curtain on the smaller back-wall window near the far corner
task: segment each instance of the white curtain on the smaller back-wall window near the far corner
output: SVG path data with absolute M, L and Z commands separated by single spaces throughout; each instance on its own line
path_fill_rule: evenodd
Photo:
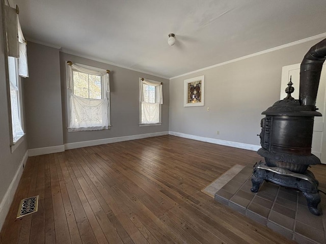
M 143 85 L 155 86 L 155 103 L 148 103 L 144 101 L 144 87 Z M 160 104 L 163 104 L 162 84 L 157 81 L 140 79 L 140 102 L 141 102 L 141 124 L 156 124 L 160 121 Z

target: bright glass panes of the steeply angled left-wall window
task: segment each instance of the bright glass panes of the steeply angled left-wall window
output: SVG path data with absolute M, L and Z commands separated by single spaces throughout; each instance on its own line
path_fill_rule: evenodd
M 21 110 L 21 86 L 18 75 L 18 58 L 8 57 L 10 83 L 11 121 L 13 144 L 24 135 Z

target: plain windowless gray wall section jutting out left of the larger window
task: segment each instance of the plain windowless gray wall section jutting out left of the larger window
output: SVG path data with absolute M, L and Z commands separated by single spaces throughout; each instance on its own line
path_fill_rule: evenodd
M 59 49 L 28 43 L 24 81 L 28 147 L 63 145 Z

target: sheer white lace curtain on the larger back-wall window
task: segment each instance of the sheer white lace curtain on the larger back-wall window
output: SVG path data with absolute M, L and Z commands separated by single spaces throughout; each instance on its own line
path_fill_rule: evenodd
M 69 131 L 93 131 L 108 129 L 110 119 L 110 81 L 106 70 L 95 70 L 79 66 L 68 66 Z M 73 94 L 73 71 L 102 76 L 102 99 L 81 98 Z

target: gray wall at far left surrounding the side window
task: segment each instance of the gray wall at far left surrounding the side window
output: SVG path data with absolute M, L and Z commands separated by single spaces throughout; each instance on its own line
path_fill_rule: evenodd
M 2 8 L 3 1 L 1 1 L 0 9 L 0 203 L 3 201 L 8 187 L 14 178 L 18 166 L 22 161 L 24 154 L 27 151 L 26 137 L 18 148 L 11 153 L 10 149 L 10 127 L 9 127 L 9 103 L 7 96 L 8 83 L 6 81 L 5 65 L 5 45 L 3 35 L 3 16 Z M 24 82 L 24 81 L 23 81 Z M 2 210 L 2 209 L 0 209 Z M 0 221 L 2 223 L 2 221 Z M 0 224 L 1 229 L 1 224 Z

